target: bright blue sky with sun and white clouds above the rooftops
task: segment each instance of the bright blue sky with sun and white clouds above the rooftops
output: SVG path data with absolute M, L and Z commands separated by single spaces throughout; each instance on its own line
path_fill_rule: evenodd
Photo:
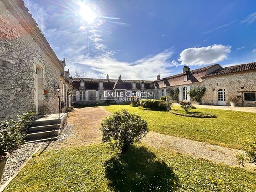
M 116 79 L 121 74 L 125 79 L 153 80 L 157 74 L 180 73 L 184 65 L 195 69 L 256 61 L 255 0 L 25 4 L 56 55 L 66 59 L 71 74 L 78 69 L 88 78 L 109 74 Z

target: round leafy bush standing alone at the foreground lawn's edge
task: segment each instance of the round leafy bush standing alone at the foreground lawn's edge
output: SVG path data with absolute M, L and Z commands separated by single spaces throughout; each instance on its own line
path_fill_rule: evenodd
M 103 143 L 110 142 L 112 147 L 117 147 L 121 152 L 125 152 L 134 142 L 141 141 L 149 132 L 145 120 L 125 109 L 103 119 L 101 126 Z

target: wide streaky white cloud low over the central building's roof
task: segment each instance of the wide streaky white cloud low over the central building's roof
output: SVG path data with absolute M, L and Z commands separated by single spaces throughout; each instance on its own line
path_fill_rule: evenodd
M 109 74 L 110 78 L 116 79 L 120 74 L 124 79 L 145 79 L 155 80 L 157 74 L 168 76 L 172 72 L 169 67 L 174 66 L 170 62 L 173 49 L 167 49 L 157 55 L 148 56 L 135 62 L 121 62 L 108 55 L 98 58 L 80 58 L 73 65 L 86 71 L 86 76 L 91 78 L 105 78 Z M 70 70 L 74 72 L 73 68 Z

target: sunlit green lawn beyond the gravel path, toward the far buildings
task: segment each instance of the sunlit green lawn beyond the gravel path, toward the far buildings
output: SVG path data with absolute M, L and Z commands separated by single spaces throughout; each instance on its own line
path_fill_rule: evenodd
M 150 111 L 128 105 L 111 105 L 106 110 L 127 109 L 148 122 L 149 130 L 211 144 L 243 149 L 256 135 L 256 113 L 198 108 L 194 112 L 214 113 L 217 118 L 194 118 L 165 111 Z M 173 106 L 181 110 L 179 106 Z

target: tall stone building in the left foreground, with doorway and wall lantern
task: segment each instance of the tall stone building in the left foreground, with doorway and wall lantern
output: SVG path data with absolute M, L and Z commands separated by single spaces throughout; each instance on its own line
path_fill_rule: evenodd
M 69 71 L 22 0 L 0 1 L 0 120 L 28 110 L 59 112 L 68 99 Z

